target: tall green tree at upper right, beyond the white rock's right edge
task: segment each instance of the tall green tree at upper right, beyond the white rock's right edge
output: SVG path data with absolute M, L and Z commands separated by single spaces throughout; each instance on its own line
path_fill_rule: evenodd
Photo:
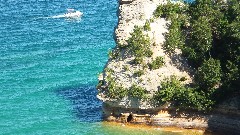
M 212 47 L 212 30 L 206 17 L 199 17 L 194 20 L 190 32 L 189 43 L 184 46 L 183 54 L 198 67 L 207 59 Z

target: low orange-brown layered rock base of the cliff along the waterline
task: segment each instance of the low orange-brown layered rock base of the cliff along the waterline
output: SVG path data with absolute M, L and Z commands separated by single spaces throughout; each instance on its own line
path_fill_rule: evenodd
M 225 108 L 227 110 L 227 108 Z M 139 110 L 109 107 L 103 104 L 104 118 L 109 122 L 146 124 L 157 127 L 177 127 L 200 129 L 217 135 L 237 135 L 240 133 L 239 115 L 229 115 L 222 111 L 202 113 L 194 110 L 176 111 Z M 239 112 L 239 110 L 238 110 Z

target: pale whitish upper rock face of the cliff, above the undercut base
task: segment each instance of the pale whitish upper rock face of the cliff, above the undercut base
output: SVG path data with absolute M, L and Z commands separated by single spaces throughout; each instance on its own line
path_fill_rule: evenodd
M 154 18 L 153 12 L 159 4 L 165 3 L 164 0 L 120 0 L 119 23 L 115 30 L 117 44 L 127 45 L 126 40 L 130 37 L 130 33 L 133 32 L 134 26 L 144 26 L 147 20 L 153 20 L 150 23 L 151 30 L 144 31 L 144 34 L 150 38 L 153 55 L 151 58 L 144 58 L 144 62 L 150 63 L 156 57 L 161 56 L 164 58 L 164 66 L 156 70 L 144 69 L 144 74 L 138 77 L 134 73 L 141 70 L 142 66 L 131 64 L 134 57 L 126 56 L 121 59 L 109 59 L 105 68 L 113 71 L 111 76 L 118 85 L 128 89 L 133 84 L 137 84 L 146 89 L 150 97 L 158 90 L 161 81 L 172 75 L 179 78 L 184 77 L 185 81 L 183 83 L 192 82 L 190 73 L 187 72 L 190 71 L 190 68 L 181 57 L 181 51 L 176 50 L 174 55 L 169 56 L 166 55 L 163 49 L 164 34 L 168 32 L 167 25 L 170 22 L 164 18 Z M 104 71 L 99 80 L 107 84 L 107 75 L 108 73 Z M 107 85 L 102 88 L 104 87 L 107 87 Z M 104 91 L 99 93 L 98 98 L 114 107 L 139 109 L 157 107 L 149 101 L 136 100 L 131 97 L 125 97 L 121 100 L 109 99 L 105 96 Z

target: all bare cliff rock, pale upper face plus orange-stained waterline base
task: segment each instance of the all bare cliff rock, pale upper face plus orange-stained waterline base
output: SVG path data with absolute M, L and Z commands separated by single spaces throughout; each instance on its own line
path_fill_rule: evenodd
M 165 4 L 165 0 L 119 0 L 119 22 L 115 30 L 117 44 L 127 44 L 135 25 L 143 26 L 146 20 L 151 20 L 153 12 L 159 4 Z M 150 93 L 157 90 L 159 82 L 171 75 L 185 77 L 184 83 L 192 81 L 191 68 L 181 57 L 181 51 L 176 50 L 172 57 L 165 54 L 162 44 L 164 33 L 168 32 L 167 25 L 170 22 L 164 18 L 155 18 L 150 24 L 151 30 L 145 32 L 150 37 L 153 51 L 153 58 L 163 56 L 165 66 L 159 70 L 147 70 L 141 77 L 133 77 L 133 72 L 139 69 L 132 66 L 126 59 L 109 59 L 106 68 L 114 69 L 113 76 L 116 83 L 125 88 L 137 83 Z M 151 61 L 146 59 L 146 61 Z M 124 67 L 129 68 L 128 71 Z M 106 71 L 99 76 L 99 81 L 106 83 Z M 139 80 L 142 81 L 139 81 Z M 149 81 L 150 80 L 150 81 Z M 186 129 L 210 130 L 221 134 L 240 134 L 240 101 L 232 103 L 226 101 L 219 105 L 212 113 L 202 113 L 194 110 L 176 111 L 176 109 L 164 106 L 155 106 L 149 101 L 138 100 L 131 97 L 123 99 L 111 99 L 105 96 L 104 89 L 107 86 L 98 87 L 98 98 L 103 101 L 103 115 L 107 121 L 130 122 L 136 124 L 147 124 L 160 127 L 180 127 Z M 102 92 L 103 91 L 103 92 Z M 231 109 L 232 107 L 233 109 Z

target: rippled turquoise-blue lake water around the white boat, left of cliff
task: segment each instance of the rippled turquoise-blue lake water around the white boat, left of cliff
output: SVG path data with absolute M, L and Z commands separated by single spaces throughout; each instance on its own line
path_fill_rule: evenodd
M 0 7 L 0 134 L 146 134 L 101 122 L 95 86 L 115 46 L 117 0 L 1 0 Z M 53 17 L 67 8 L 84 15 Z

